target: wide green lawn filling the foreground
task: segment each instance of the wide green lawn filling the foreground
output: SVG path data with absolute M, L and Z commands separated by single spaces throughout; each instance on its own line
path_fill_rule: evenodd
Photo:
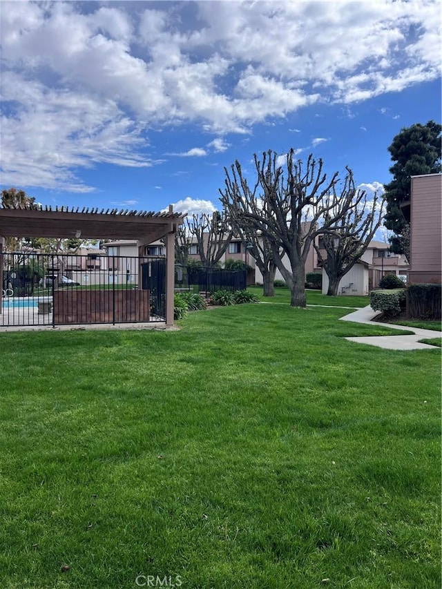
M 344 312 L 0 334 L 2 589 L 439 588 L 439 350 Z

